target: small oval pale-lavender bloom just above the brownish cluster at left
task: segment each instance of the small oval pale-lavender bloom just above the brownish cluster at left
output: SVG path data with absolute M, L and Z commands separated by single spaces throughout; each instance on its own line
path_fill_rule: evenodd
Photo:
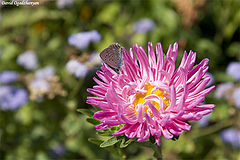
M 55 74 L 55 68 L 53 68 L 52 66 L 46 66 L 42 69 L 37 70 L 35 73 L 35 77 L 37 79 L 45 79 L 45 78 L 52 77 L 54 74 Z

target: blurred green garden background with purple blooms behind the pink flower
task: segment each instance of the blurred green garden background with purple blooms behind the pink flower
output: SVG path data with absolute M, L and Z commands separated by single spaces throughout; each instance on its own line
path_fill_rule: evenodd
M 164 158 L 240 159 L 239 0 L 31 2 L 40 4 L 0 5 L 0 159 L 121 159 L 114 146 L 88 141 L 98 135 L 77 109 L 94 111 L 86 89 L 101 50 L 114 42 L 147 50 L 149 41 L 165 53 L 178 42 L 178 63 L 184 50 L 198 63 L 209 58 L 216 85 L 204 100 L 214 111 L 177 141 L 163 140 Z M 153 159 L 138 143 L 121 153 Z

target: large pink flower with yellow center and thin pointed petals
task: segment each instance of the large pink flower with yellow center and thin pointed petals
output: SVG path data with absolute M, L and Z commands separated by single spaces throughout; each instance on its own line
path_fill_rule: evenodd
M 97 85 L 88 89 L 97 97 L 87 98 L 88 104 L 102 109 L 94 114 L 94 118 L 101 119 L 96 129 L 123 124 L 114 136 L 125 134 L 142 142 L 151 135 L 160 145 L 161 135 L 172 139 L 191 129 L 186 121 L 200 120 L 211 113 L 214 104 L 201 104 L 215 88 L 203 90 L 210 81 L 208 76 L 202 78 L 209 60 L 206 58 L 194 66 L 196 53 L 190 51 L 187 55 L 185 51 L 175 70 L 177 52 L 177 43 L 169 46 L 165 58 L 160 43 L 156 54 L 152 43 L 148 44 L 148 55 L 138 45 L 130 52 L 124 49 L 119 74 L 103 63 L 102 71 L 97 71 L 101 80 L 94 77 Z

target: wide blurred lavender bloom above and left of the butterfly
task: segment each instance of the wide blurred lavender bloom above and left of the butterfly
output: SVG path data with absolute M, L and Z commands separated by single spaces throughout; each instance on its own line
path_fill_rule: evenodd
M 100 40 L 101 35 L 96 30 L 92 30 L 89 32 L 72 34 L 68 38 L 68 43 L 78 49 L 85 49 L 91 42 L 99 42 Z

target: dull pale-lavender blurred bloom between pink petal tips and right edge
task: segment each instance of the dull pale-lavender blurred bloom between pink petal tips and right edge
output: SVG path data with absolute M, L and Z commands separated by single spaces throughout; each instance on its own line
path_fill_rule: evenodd
M 216 91 L 215 91 L 215 96 L 216 98 L 220 99 L 223 98 L 224 95 L 226 94 L 226 92 L 228 92 L 229 90 L 234 88 L 234 84 L 231 82 L 226 82 L 226 83 L 221 83 L 219 85 L 217 85 Z M 230 95 L 226 95 L 227 99 L 228 96 Z

